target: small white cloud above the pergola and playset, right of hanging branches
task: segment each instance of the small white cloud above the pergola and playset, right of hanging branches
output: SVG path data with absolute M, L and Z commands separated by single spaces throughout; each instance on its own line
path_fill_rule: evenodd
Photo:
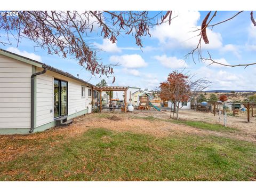
M 113 55 L 109 58 L 109 61 L 119 63 L 125 68 L 140 68 L 148 65 L 139 54 Z

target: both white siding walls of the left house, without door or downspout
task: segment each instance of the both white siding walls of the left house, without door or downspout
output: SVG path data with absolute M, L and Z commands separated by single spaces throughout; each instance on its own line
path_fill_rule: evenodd
M 42 68 L 0 54 L 0 134 L 28 134 L 30 130 L 30 77 Z M 92 97 L 82 98 L 75 79 L 47 70 L 35 77 L 35 129 L 44 131 L 55 126 L 53 119 L 53 79 L 68 82 L 68 119 L 91 113 Z M 90 87 L 91 88 L 91 87 Z M 87 109 L 88 107 L 88 109 Z

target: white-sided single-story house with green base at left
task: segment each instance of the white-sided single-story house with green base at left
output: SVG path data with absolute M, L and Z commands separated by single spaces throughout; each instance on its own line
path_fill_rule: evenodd
M 82 79 L 0 49 L 0 134 L 44 131 L 59 117 L 91 113 L 95 94 Z

